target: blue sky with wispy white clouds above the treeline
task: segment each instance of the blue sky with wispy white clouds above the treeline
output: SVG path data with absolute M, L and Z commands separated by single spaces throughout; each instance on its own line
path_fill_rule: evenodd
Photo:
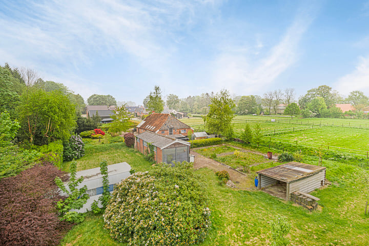
M 369 1 L 0 0 L 0 65 L 85 100 L 260 95 L 327 85 L 369 96 Z

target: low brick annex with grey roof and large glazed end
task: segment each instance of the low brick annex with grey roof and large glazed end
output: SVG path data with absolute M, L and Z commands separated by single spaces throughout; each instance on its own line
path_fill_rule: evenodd
M 142 154 L 149 154 L 153 146 L 154 158 L 157 163 L 171 164 L 173 161 L 190 161 L 190 143 L 173 136 L 164 136 L 145 131 L 136 136 L 136 149 Z

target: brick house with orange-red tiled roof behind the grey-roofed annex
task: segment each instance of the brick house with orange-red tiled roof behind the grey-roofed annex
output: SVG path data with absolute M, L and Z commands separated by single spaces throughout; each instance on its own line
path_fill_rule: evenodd
M 179 121 L 171 114 L 152 113 L 142 120 L 136 127 L 137 133 L 145 131 L 154 132 L 160 135 L 173 135 L 176 138 L 185 139 L 193 129 L 185 123 Z

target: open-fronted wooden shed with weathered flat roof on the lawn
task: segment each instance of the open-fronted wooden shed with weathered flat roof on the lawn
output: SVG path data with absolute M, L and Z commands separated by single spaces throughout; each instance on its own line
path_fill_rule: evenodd
M 256 173 L 258 189 L 285 200 L 290 200 L 293 192 L 308 193 L 324 186 L 325 182 L 325 167 L 295 161 Z

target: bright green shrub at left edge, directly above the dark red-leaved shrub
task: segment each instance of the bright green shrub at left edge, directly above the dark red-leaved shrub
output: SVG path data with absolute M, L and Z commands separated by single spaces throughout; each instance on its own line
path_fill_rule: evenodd
M 0 178 L 15 176 L 32 167 L 42 156 L 36 150 L 26 150 L 18 146 L 0 147 Z

